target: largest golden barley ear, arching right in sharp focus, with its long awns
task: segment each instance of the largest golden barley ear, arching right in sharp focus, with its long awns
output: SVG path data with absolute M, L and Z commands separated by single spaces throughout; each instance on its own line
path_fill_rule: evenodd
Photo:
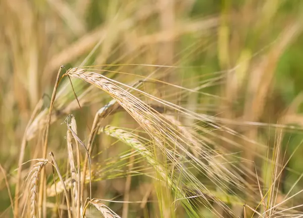
M 242 187 L 238 184 L 238 178 L 232 172 L 227 168 L 224 168 L 223 165 L 222 167 L 219 167 L 219 164 L 216 163 L 214 155 L 222 156 L 222 154 L 204 151 L 204 153 L 200 153 L 203 154 L 201 159 L 196 158 L 192 153 L 188 152 L 188 148 L 192 147 L 192 144 L 188 143 L 188 135 L 186 136 L 185 133 L 189 134 L 189 132 L 180 129 L 177 123 L 174 124 L 170 119 L 151 108 L 144 101 L 120 87 L 126 86 L 130 88 L 129 86 L 81 68 L 72 68 L 67 74 L 71 77 L 90 83 L 113 97 L 144 129 L 145 133 L 148 134 L 150 140 L 153 142 L 155 149 L 162 154 L 163 159 L 174 166 L 174 175 L 178 174 L 178 181 L 182 181 L 183 183 L 181 186 L 182 188 L 187 187 L 187 189 L 189 189 L 186 190 L 187 193 L 196 195 L 196 192 L 198 192 L 199 203 L 210 208 L 214 214 L 219 215 L 219 212 L 216 211 L 209 198 L 211 198 L 212 201 L 215 201 L 226 212 L 233 214 L 233 211 L 225 203 L 216 198 L 216 195 L 212 194 L 212 191 L 188 170 L 188 168 L 196 169 L 201 175 L 208 177 L 212 184 L 221 190 L 222 193 L 227 194 L 228 191 L 234 193 L 229 185 L 232 185 L 235 188 Z M 161 101 L 140 90 L 134 90 L 141 95 L 145 95 L 150 99 L 157 100 L 159 103 L 177 110 L 179 113 L 202 119 L 200 116 L 193 113 L 190 114 L 189 111 L 186 111 L 184 108 L 177 105 Z M 217 125 L 213 124 L 213 126 L 219 128 Z M 192 142 L 194 141 L 192 140 Z M 205 148 L 203 143 L 199 143 L 199 146 Z M 205 161 L 207 161 L 208 164 L 205 164 Z M 189 166 L 186 166 L 187 164 Z M 220 174 L 215 174 L 213 167 L 216 167 Z M 190 186 L 188 186 L 189 184 Z M 206 193 L 210 193 L 207 194 L 208 197 L 206 197 Z M 190 203 L 187 203 L 186 207 L 189 208 L 194 216 L 198 217 L 198 214 L 195 213 L 195 210 Z

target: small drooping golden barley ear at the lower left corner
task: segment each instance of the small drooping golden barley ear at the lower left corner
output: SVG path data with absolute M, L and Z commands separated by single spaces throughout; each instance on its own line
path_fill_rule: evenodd
M 47 159 L 39 159 L 39 162 L 33 165 L 31 171 L 29 172 L 28 182 L 30 190 L 30 217 L 37 217 L 39 176 L 41 170 L 47 163 Z

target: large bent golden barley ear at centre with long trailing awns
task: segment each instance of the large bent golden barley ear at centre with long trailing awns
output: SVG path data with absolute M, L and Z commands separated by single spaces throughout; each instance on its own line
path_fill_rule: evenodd
M 149 134 L 166 158 L 173 163 L 176 169 L 178 169 L 180 175 L 184 174 L 183 178 L 188 180 L 189 183 L 193 184 L 192 192 L 199 192 L 199 196 L 201 197 L 200 201 L 202 201 L 206 206 L 211 207 L 212 212 L 219 214 L 204 194 L 209 192 L 207 187 L 186 169 L 183 161 L 178 160 L 178 158 L 184 157 L 184 154 L 186 154 L 186 156 L 192 160 L 192 163 L 190 164 L 199 165 L 199 167 L 195 165 L 192 165 L 192 167 L 195 167 L 197 170 L 203 173 L 201 169 L 199 169 L 202 164 L 201 161 L 192 154 L 188 153 L 187 148 L 184 147 L 184 145 L 187 146 L 186 138 L 179 134 L 180 130 L 178 130 L 178 128 L 172 122 L 165 119 L 164 116 L 161 116 L 161 114 L 157 113 L 157 111 L 150 108 L 137 97 L 131 95 L 114 84 L 115 81 L 110 80 L 102 75 L 95 74 L 94 72 L 88 72 L 81 68 L 69 69 L 66 74 L 93 84 L 94 86 L 111 95 L 138 122 L 138 124 L 141 125 L 146 133 Z M 181 150 L 181 152 L 184 154 L 178 154 L 177 150 Z M 207 168 L 207 170 L 210 169 Z M 226 177 L 228 176 L 226 175 Z M 221 185 L 226 187 L 226 184 L 222 183 L 222 181 L 220 181 L 220 179 L 215 175 L 213 175 L 213 179 L 215 179 L 213 182 L 218 188 L 222 189 Z M 218 201 L 218 199 L 215 198 L 213 200 L 216 201 L 227 212 L 233 213 L 223 202 Z M 190 207 L 190 211 L 195 213 L 190 204 L 187 204 L 187 206 Z M 198 215 L 195 214 L 195 216 Z

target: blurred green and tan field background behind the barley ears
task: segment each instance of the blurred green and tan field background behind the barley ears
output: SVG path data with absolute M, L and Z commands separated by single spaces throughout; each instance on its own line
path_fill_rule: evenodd
M 279 189 L 285 194 L 295 184 L 293 193 L 300 191 L 303 184 L 297 179 L 303 172 L 302 15 L 301 0 L 1 0 L 0 163 L 12 192 L 26 125 L 39 99 L 43 99 L 42 109 L 49 106 L 60 65 L 69 68 L 129 63 L 178 66 L 169 69 L 170 76 L 165 80 L 178 81 L 184 87 L 196 87 L 222 76 L 203 91 L 228 101 L 199 94 L 184 105 L 190 108 L 194 101 L 199 106 L 196 111 L 224 119 L 224 125 L 269 148 L 277 143 L 281 128 L 260 123 L 283 126 L 281 164 L 291 159 L 283 170 Z M 147 76 L 159 67 L 104 68 Z M 165 70 L 160 67 L 159 74 Z M 134 80 L 131 75 L 109 76 L 123 83 Z M 66 114 L 75 114 L 81 126 L 79 132 L 83 132 L 80 135 L 85 138 L 86 123 L 90 125 L 96 110 L 110 100 L 75 82 L 77 95 L 83 94 L 81 113 L 67 82 L 60 85 L 62 91 L 56 100 L 58 121 L 54 125 L 58 128 L 53 128 L 49 142 L 54 150 L 64 146 L 66 130 L 60 123 Z M 117 115 L 114 123 L 119 124 L 119 116 L 126 115 Z M 41 126 L 32 125 L 26 133 L 29 145 L 25 161 L 39 157 L 37 135 L 41 134 Z M 239 143 L 241 149 L 226 146 L 227 151 L 241 152 L 241 157 L 254 161 L 259 169 L 267 168 L 266 162 L 256 155 L 266 157 L 266 149 Z M 25 166 L 24 174 L 28 170 Z M 253 164 L 246 167 L 255 171 Z M 266 177 L 266 170 L 260 172 Z M 113 183 L 108 191 L 123 193 L 115 189 L 120 185 Z M 301 196 L 295 199 L 303 203 Z M 3 174 L 0 202 L 0 211 L 7 211 L 10 201 Z

